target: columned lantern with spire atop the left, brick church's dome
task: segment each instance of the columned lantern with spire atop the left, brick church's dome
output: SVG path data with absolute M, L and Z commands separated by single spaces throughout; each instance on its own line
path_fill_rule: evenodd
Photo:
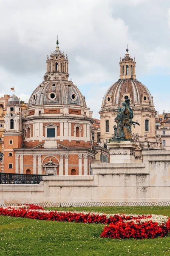
M 68 57 L 64 52 L 59 50 L 59 41 L 57 36 L 56 50 L 51 52 L 50 57 L 47 55 L 47 72 L 44 75 L 45 81 L 48 80 L 68 80 Z

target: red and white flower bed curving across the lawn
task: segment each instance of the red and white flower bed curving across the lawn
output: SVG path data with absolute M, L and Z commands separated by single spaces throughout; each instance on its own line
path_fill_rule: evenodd
M 170 231 L 170 218 L 163 215 L 49 211 L 34 204 L 2 207 L 0 208 L 0 215 L 39 220 L 107 224 L 101 237 L 114 239 L 163 237 Z

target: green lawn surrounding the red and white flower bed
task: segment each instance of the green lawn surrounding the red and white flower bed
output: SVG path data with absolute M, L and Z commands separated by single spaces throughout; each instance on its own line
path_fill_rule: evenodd
M 57 209 L 108 213 L 154 213 L 170 216 L 170 207 L 70 207 Z M 170 255 L 170 236 L 144 240 L 101 239 L 100 234 L 103 227 L 102 224 L 39 221 L 0 216 L 0 255 Z

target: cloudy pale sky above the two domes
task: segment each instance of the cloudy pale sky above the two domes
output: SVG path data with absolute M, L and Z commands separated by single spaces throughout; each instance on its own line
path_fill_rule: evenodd
M 0 95 L 28 101 L 56 47 L 94 118 L 128 44 L 136 78 L 170 111 L 170 0 L 0 0 Z

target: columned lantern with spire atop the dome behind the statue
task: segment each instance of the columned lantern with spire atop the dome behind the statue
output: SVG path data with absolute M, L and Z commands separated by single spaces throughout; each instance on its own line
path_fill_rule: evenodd
M 135 57 L 130 58 L 129 55 L 129 50 L 128 48 L 126 49 L 126 55 L 124 58 L 120 58 L 120 79 L 128 79 L 128 78 L 133 78 L 136 79 L 136 73 L 135 73 Z

